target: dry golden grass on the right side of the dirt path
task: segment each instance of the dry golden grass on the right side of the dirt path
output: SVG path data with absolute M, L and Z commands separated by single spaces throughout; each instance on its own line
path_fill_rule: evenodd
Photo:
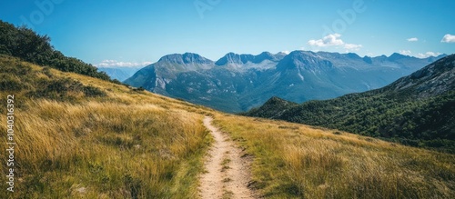
M 306 125 L 217 114 L 255 156 L 268 198 L 454 198 L 455 155 Z

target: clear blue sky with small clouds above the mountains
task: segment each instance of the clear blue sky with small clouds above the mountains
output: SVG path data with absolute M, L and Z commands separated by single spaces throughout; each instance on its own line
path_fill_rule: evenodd
M 453 10 L 453 0 L 18 0 L 0 3 L 0 19 L 87 63 L 132 66 L 186 52 L 453 54 Z

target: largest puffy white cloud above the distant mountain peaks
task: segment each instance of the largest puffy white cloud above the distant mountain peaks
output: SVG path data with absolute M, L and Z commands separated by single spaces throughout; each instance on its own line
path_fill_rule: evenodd
M 318 47 L 341 46 L 344 49 L 346 49 L 347 52 L 359 51 L 360 48 L 362 47 L 362 45 L 346 44 L 339 37 L 341 37 L 341 35 L 339 35 L 339 34 L 327 35 L 327 36 L 324 36 L 324 38 L 322 38 L 322 39 L 309 40 L 308 45 L 318 46 Z

